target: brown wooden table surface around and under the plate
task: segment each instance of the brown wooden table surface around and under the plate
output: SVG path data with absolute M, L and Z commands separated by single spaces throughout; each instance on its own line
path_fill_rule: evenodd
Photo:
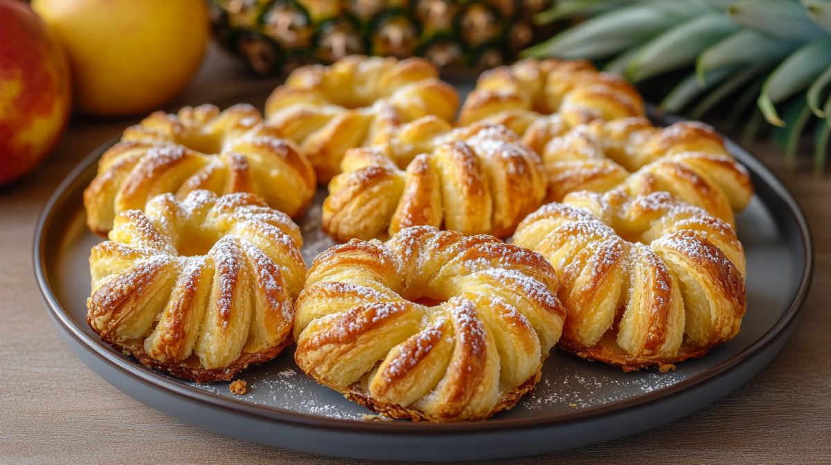
M 214 101 L 253 82 L 212 48 L 170 105 Z M 32 269 L 43 205 L 86 154 L 135 120 L 74 118 L 47 161 L 0 188 L 0 463 L 363 463 L 226 438 L 121 394 L 71 353 L 47 317 Z M 608 443 L 490 463 L 831 463 L 831 178 L 784 170 L 749 148 L 799 201 L 814 237 L 814 283 L 793 337 L 765 370 L 675 422 Z

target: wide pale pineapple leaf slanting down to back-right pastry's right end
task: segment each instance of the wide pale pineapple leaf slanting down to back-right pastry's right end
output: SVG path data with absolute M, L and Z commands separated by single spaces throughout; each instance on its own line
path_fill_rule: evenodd
M 739 26 L 719 13 L 696 17 L 655 37 L 627 66 L 632 81 L 642 81 L 696 61 L 701 51 L 724 39 Z

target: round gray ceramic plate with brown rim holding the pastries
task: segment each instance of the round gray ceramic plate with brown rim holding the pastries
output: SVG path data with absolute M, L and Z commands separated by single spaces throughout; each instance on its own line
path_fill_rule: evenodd
M 253 91 L 233 101 L 258 104 L 266 95 Z M 228 383 L 200 385 L 148 370 L 86 325 L 87 259 L 99 239 L 86 229 L 81 193 L 113 143 L 69 174 L 37 225 L 35 270 L 49 316 L 81 360 L 125 394 L 201 428 L 280 448 L 348 458 L 455 460 L 543 453 L 638 433 L 701 409 L 761 370 L 793 330 L 808 291 L 812 252 L 802 213 L 767 169 L 729 143 L 756 189 L 750 207 L 737 216 L 747 254 L 747 313 L 740 334 L 706 357 L 669 373 L 626 374 L 554 350 L 534 396 L 475 423 L 364 421 L 366 409 L 302 374 L 293 350 L 244 371 L 239 378 L 249 394 L 237 397 Z M 321 189 L 299 221 L 307 263 L 332 245 L 320 231 L 324 197 Z

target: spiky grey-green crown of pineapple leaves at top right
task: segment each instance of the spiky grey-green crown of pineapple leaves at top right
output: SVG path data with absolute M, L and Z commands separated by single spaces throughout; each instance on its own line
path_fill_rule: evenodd
M 814 115 L 814 166 L 824 169 L 831 134 L 829 0 L 561 0 L 538 22 L 568 20 L 570 29 L 524 56 L 584 57 L 663 92 L 659 110 L 689 110 L 697 119 L 732 96 L 730 113 L 754 100 L 745 135 L 762 118 L 794 163 L 800 135 Z M 583 20 L 581 22 L 581 20 Z M 686 71 L 686 73 L 685 73 Z M 779 116 L 777 105 L 784 106 Z

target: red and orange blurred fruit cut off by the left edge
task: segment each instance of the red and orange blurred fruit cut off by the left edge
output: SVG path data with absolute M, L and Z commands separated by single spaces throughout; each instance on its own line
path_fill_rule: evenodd
M 0 184 L 34 169 L 57 144 L 71 108 L 61 45 L 26 3 L 0 0 Z

